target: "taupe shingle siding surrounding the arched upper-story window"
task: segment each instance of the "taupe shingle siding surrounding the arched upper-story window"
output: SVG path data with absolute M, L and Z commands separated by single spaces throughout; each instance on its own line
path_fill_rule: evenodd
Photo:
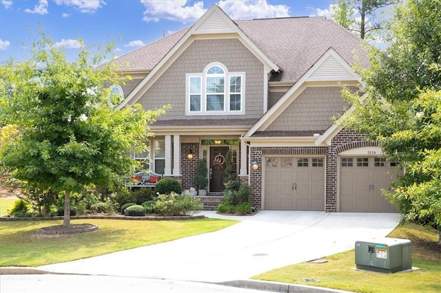
M 237 39 L 196 40 L 139 100 L 145 109 L 172 106 L 158 120 L 205 119 L 185 116 L 185 74 L 203 72 L 214 61 L 229 72 L 245 72 L 245 115 L 210 116 L 213 119 L 259 118 L 263 114 L 263 64 Z

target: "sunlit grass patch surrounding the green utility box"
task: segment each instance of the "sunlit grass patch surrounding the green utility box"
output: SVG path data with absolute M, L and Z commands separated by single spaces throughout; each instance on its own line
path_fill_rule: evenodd
M 438 232 L 416 224 L 398 226 L 389 237 L 411 239 L 414 272 L 381 274 L 354 270 L 354 250 L 325 258 L 327 263 L 299 263 L 254 276 L 253 279 L 330 287 L 351 292 L 441 292 L 441 247 Z M 320 282 L 305 282 L 315 279 Z

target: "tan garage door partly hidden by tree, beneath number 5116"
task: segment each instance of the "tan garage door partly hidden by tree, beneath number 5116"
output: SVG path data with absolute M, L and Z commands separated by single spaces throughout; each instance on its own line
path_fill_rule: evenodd
M 400 172 L 386 158 L 340 158 L 340 211 L 396 212 L 381 190 L 389 189 Z

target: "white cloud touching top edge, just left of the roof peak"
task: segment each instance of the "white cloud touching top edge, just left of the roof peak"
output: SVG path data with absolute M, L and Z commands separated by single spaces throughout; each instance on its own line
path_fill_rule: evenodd
M 157 22 L 160 19 L 167 19 L 167 21 L 183 23 L 194 22 L 206 11 L 203 1 L 195 2 L 193 6 L 186 6 L 186 0 L 141 0 L 141 3 L 145 6 L 143 21 Z

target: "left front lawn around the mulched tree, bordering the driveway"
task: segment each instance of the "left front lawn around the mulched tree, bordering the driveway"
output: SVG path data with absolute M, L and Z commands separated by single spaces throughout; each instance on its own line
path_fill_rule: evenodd
M 238 221 L 195 219 L 186 221 L 72 220 L 71 224 L 98 225 L 94 232 L 47 237 L 37 235 L 62 221 L 0 222 L 0 266 L 39 266 L 171 241 L 227 228 Z

